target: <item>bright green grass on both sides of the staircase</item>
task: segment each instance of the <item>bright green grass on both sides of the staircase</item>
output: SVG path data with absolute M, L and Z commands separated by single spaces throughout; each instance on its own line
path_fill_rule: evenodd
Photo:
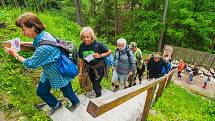
M 15 37 L 23 41 L 32 41 L 21 35 L 19 28 L 15 26 L 15 19 L 23 10 L 0 9 L 0 23 L 5 22 L 7 28 L 0 29 L 0 43 Z M 46 24 L 46 30 L 57 37 L 70 40 L 77 46 L 80 44 L 80 27 L 70 20 L 51 12 L 38 13 Z M 115 47 L 110 46 L 111 50 Z M 32 53 L 21 52 L 24 57 L 30 57 Z M 147 55 L 144 57 L 147 58 Z M 36 85 L 40 78 L 41 68 L 35 70 L 25 69 L 20 62 L 5 54 L 0 48 L 0 110 L 6 113 L 6 118 L 18 120 L 19 117 L 28 117 L 30 121 L 49 121 L 48 116 L 35 108 L 34 105 L 42 100 L 36 96 Z M 110 73 L 111 75 L 111 73 Z M 111 77 L 103 80 L 102 86 L 111 89 Z M 77 78 L 73 81 L 73 89 L 82 93 Z M 58 98 L 62 93 L 53 90 Z M 195 96 L 184 89 L 171 84 L 162 97 L 153 106 L 158 115 L 150 115 L 148 120 L 190 120 L 212 121 L 215 120 L 215 104 L 212 101 Z

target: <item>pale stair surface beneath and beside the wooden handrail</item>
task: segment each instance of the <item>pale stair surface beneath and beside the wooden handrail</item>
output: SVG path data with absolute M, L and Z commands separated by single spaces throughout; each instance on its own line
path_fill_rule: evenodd
M 102 91 L 102 97 L 109 97 L 113 92 L 109 90 Z M 123 92 L 120 90 L 119 92 Z M 79 95 L 81 104 L 73 112 L 70 112 L 65 107 L 57 110 L 52 116 L 53 121 L 137 121 L 141 120 L 146 92 L 126 101 L 122 105 L 107 111 L 103 115 L 93 117 L 87 112 L 87 106 L 90 99 L 85 95 Z M 129 114 L 129 115 L 128 115 Z M 138 119 L 139 118 L 139 119 Z

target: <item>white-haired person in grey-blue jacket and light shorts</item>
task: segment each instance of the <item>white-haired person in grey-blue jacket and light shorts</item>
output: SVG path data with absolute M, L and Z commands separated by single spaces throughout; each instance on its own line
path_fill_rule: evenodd
M 114 91 L 119 90 L 120 84 L 124 88 L 128 87 L 128 77 L 135 70 L 135 60 L 132 51 L 127 46 L 124 38 L 117 40 L 117 49 L 115 51 L 115 65 L 113 67 L 112 83 Z

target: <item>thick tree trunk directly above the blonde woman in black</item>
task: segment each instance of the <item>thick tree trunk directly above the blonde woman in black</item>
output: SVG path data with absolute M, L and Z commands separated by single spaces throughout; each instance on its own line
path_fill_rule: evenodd
M 75 3 L 76 21 L 78 25 L 83 26 L 83 19 L 82 19 L 82 13 L 81 13 L 81 1 L 74 0 L 74 3 Z

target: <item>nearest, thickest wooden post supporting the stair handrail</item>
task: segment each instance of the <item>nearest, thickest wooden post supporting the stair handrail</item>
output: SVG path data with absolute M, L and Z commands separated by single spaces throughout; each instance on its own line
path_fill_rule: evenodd
M 155 92 L 155 89 L 156 89 L 155 87 L 156 86 L 153 86 L 153 87 L 151 87 L 151 88 L 149 88 L 147 90 L 147 96 L 146 96 L 146 101 L 145 101 L 141 121 L 145 121 L 145 119 L 148 116 L 148 113 L 149 113 L 149 110 L 150 110 L 150 107 L 151 107 L 151 104 L 152 104 L 152 99 L 153 99 L 153 96 L 154 96 L 154 92 Z

